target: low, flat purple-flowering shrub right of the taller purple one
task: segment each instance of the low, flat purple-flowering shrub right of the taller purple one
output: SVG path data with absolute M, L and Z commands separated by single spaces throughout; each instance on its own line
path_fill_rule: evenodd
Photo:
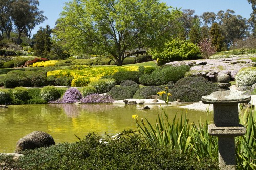
M 114 99 L 110 95 L 90 94 L 80 100 L 83 103 L 112 103 Z

